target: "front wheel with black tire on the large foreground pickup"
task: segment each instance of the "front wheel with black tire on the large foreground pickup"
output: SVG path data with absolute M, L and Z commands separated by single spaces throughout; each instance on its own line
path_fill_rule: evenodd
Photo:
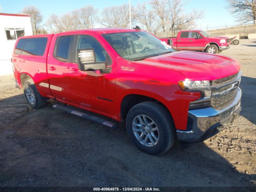
M 170 113 L 155 102 L 133 106 L 126 117 L 126 128 L 134 144 L 148 154 L 165 153 L 176 138 Z

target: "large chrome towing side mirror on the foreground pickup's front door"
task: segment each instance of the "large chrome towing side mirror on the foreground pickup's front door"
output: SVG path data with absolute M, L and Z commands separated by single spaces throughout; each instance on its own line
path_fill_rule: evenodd
M 95 71 L 98 69 L 106 69 L 105 62 L 96 62 L 95 51 L 93 48 L 79 49 L 77 52 L 78 68 L 81 71 Z

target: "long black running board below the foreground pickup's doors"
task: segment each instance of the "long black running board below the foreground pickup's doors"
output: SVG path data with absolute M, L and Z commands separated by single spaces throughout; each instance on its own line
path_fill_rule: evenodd
M 105 119 L 102 119 L 102 118 L 99 118 L 99 117 L 96 117 L 96 116 L 93 116 L 93 115 L 90 115 L 90 114 L 86 114 L 86 113 L 83 113 L 83 112 L 80 112 L 80 111 L 76 111 L 76 110 L 68 108 L 66 106 L 54 104 L 52 107 L 56 108 L 56 109 L 60 109 L 62 111 L 65 111 L 69 114 L 73 114 L 73 115 L 76 115 L 78 117 L 96 122 L 98 124 L 101 124 L 101 125 L 104 125 L 104 126 L 107 126 L 107 127 L 110 127 L 112 129 L 116 129 L 116 128 L 119 127 L 118 124 L 112 123 L 110 121 L 107 121 Z

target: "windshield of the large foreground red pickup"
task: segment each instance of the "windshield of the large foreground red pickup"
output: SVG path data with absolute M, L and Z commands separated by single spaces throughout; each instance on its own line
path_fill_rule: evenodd
M 130 61 L 174 52 L 171 46 L 147 32 L 104 34 L 103 37 L 122 58 Z

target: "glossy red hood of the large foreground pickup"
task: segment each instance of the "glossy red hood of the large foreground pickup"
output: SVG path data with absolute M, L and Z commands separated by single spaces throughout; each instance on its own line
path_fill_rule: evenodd
M 191 51 L 168 53 L 133 63 L 174 70 L 190 80 L 216 80 L 240 71 L 240 63 L 237 60 Z

